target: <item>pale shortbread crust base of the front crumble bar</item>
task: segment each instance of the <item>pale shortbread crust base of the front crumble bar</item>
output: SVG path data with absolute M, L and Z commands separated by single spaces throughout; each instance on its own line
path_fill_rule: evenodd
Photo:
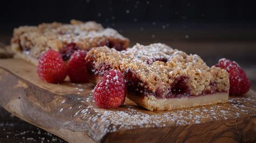
M 204 96 L 167 99 L 157 99 L 154 96 L 145 96 L 143 98 L 133 95 L 131 93 L 128 93 L 127 97 L 131 99 L 134 103 L 150 111 L 170 111 L 180 108 L 190 108 L 193 106 L 202 106 L 228 102 L 228 92 L 221 92 Z

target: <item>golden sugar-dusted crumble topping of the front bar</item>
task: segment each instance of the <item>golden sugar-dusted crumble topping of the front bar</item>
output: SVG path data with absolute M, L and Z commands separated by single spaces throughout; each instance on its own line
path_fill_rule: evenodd
M 160 92 L 160 95 L 167 95 L 172 88 L 170 85 L 180 77 L 187 79 L 186 86 L 194 96 L 205 92 L 211 94 L 212 90 L 229 90 L 228 73 L 224 69 L 215 66 L 210 68 L 198 55 L 188 55 L 165 44 L 136 44 L 122 52 L 106 46 L 93 48 L 86 60 L 93 61 L 95 69 L 108 65 L 123 73 L 132 71 L 140 81 L 137 90 L 143 87 L 152 92 Z

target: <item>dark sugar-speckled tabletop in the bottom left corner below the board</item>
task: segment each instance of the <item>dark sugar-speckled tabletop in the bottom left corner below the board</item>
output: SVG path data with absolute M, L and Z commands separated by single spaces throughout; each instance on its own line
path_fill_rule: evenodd
M 0 107 L 0 142 L 64 142 L 49 132 L 27 123 Z

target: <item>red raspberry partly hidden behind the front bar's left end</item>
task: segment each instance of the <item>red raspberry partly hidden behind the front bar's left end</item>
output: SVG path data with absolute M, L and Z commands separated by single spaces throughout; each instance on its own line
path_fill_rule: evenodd
M 68 63 L 68 75 L 73 83 L 84 83 L 88 82 L 87 78 L 89 75 L 86 70 L 85 56 L 86 51 L 75 51 Z

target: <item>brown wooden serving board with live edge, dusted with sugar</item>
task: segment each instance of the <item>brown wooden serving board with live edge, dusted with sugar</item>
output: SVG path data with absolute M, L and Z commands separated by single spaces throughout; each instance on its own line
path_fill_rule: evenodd
M 93 85 L 50 84 L 23 60 L 0 60 L 0 104 L 15 116 L 70 142 L 255 142 L 256 92 L 228 103 L 147 111 L 126 98 L 99 109 Z

